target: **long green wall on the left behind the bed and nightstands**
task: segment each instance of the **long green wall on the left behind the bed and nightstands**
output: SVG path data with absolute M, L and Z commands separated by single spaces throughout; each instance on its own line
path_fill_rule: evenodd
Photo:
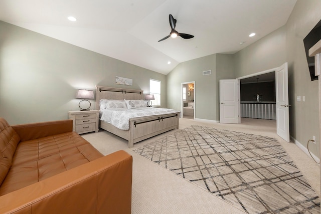
M 133 86 L 116 85 L 115 76 Z M 150 78 L 162 81 L 166 107 L 165 75 L 0 22 L 0 117 L 11 125 L 68 119 L 69 110 L 79 109 L 77 89 L 103 85 L 148 94 Z

